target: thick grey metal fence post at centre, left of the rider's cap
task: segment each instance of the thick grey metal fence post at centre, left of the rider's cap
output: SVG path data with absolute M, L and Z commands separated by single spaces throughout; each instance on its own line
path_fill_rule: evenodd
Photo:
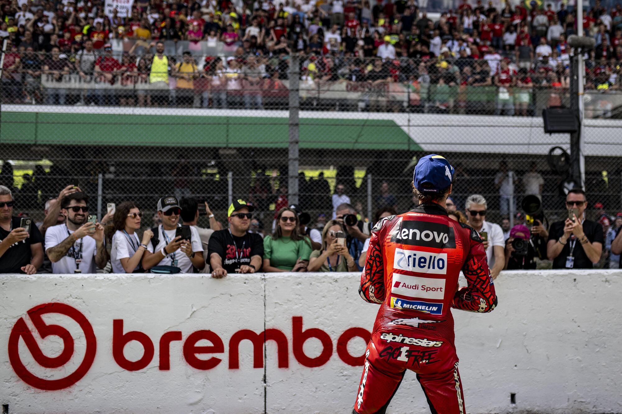
M 287 175 L 289 178 L 289 204 L 298 204 L 298 162 L 299 162 L 299 122 L 300 110 L 300 65 L 298 53 L 292 53 L 289 66 L 289 157 Z

